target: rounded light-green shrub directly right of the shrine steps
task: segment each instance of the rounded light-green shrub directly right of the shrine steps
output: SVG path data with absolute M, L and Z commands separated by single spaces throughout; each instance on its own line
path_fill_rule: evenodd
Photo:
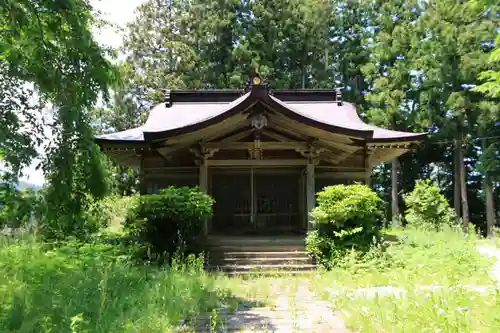
M 347 248 L 368 248 L 383 224 L 383 202 L 365 185 L 334 185 L 317 193 L 311 212 L 315 230 L 306 238 L 307 251 L 330 266 Z

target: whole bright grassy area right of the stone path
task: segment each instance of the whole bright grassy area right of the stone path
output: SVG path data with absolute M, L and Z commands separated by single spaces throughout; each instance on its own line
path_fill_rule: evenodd
M 477 236 L 451 229 L 410 229 L 391 230 L 386 238 L 393 241 L 385 250 L 374 248 L 364 258 L 352 253 L 341 267 L 316 278 L 317 289 L 344 314 L 350 329 L 498 332 L 500 290 L 489 276 L 493 259 L 476 250 Z M 471 285 L 485 288 L 480 292 Z M 355 290 L 376 286 L 399 287 L 406 293 L 368 296 Z

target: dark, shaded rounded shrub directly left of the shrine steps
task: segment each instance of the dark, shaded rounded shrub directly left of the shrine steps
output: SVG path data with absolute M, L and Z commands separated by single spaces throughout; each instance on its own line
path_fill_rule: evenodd
M 194 251 L 212 204 L 197 188 L 169 187 L 138 197 L 127 213 L 125 231 L 154 254 Z

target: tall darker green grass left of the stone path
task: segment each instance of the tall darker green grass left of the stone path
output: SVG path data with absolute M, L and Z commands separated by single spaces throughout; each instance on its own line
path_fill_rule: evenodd
M 114 246 L 0 239 L 0 332 L 169 332 L 230 294 L 201 259 L 158 269 Z

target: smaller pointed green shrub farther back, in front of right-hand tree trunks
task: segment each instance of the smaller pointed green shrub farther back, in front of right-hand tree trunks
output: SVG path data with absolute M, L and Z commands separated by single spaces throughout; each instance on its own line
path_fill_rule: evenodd
M 417 180 L 413 191 L 404 196 L 404 201 L 406 222 L 416 227 L 439 230 L 456 221 L 448 200 L 438 187 L 431 185 L 430 180 Z

